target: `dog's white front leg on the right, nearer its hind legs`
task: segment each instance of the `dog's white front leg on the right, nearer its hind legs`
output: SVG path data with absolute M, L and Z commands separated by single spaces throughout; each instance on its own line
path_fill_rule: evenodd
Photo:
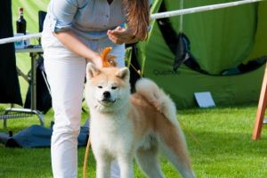
M 133 158 L 118 158 L 118 166 L 120 169 L 120 178 L 133 178 L 134 177 L 134 166 Z

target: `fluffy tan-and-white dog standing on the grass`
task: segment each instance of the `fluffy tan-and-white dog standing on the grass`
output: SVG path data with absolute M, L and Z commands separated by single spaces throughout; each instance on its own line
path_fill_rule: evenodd
M 129 69 L 86 66 L 85 101 L 90 110 L 90 139 L 96 177 L 109 178 L 117 160 L 121 178 L 134 177 L 136 157 L 142 172 L 163 178 L 158 152 L 182 177 L 195 177 L 174 102 L 150 79 L 142 78 L 130 93 Z

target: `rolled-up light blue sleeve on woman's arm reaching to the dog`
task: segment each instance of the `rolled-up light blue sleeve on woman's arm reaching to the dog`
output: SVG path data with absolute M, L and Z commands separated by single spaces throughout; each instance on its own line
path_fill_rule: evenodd
M 52 0 L 50 4 L 51 30 L 53 32 L 69 30 L 77 9 L 77 0 Z

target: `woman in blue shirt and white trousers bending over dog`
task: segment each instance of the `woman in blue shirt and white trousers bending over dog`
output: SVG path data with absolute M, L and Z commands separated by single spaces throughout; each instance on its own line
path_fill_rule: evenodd
M 44 67 L 51 86 L 54 125 L 53 177 L 77 177 L 86 62 L 102 67 L 100 52 L 112 46 L 118 67 L 125 65 L 125 44 L 144 40 L 148 0 L 52 0 L 44 20 Z M 124 24 L 127 28 L 124 28 Z

